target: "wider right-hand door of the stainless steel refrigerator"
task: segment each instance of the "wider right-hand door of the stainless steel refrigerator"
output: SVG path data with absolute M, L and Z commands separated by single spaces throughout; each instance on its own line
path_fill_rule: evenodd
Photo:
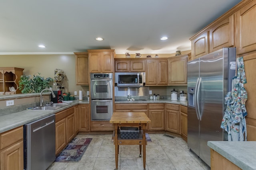
M 221 49 L 200 57 L 200 158 L 210 166 L 210 148 L 207 141 L 222 141 L 220 124 L 223 118 L 223 56 Z

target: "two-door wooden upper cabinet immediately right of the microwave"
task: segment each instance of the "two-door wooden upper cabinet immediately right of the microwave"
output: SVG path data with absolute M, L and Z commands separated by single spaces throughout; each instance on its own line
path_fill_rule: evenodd
M 168 61 L 167 59 L 146 60 L 146 85 L 168 84 Z

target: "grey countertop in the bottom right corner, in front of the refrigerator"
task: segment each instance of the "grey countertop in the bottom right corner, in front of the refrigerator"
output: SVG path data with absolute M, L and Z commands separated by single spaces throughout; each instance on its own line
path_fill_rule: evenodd
M 208 141 L 207 145 L 243 170 L 256 170 L 256 141 Z

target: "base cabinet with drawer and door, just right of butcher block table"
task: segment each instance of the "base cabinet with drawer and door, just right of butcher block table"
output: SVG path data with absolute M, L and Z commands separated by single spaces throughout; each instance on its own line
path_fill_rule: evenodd
M 148 104 L 148 109 L 148 117 L 151 120 L 151 123 L 149 123 L 149 130 L 164 130 L 164 104 Z

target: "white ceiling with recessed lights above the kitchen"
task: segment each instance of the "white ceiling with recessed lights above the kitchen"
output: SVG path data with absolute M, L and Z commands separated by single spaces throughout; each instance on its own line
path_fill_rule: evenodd
M 240 1 L 1 0 L 0 54 L 186 51 L 190 37 Z

